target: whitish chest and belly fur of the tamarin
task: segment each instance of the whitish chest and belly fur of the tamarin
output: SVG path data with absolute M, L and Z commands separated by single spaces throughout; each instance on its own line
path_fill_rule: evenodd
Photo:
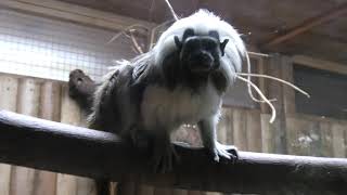
M 221 96 L 214 86 L 208 84 L 200 92 L 187 88 L 168 90 L 158 86 L 145 89 L 141 105 L 144 128 L 178 128 L 182 123 L 195 123 L 201 119 L 218 114 Z

